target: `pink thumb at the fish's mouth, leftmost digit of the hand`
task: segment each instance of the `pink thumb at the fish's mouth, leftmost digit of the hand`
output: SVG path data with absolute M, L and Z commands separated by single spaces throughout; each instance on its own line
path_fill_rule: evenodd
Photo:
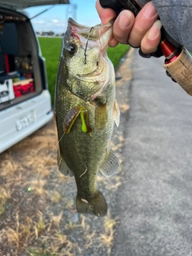
M 117 16 L 117 14 L 115 13 L 114 10 L 112 10 L 110 8 L 102 8 L 99 0 L 97 0 L 97 2 L 96 2 L 96 10 L 98 11 L 98 16 L 101 18 L 102 25 L 106 24 L 111 19 L 113 19 Z

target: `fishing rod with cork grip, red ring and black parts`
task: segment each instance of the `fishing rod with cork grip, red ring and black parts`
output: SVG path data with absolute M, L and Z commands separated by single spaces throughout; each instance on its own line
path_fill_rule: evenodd
M 122 10 L 130 10 L 136 17 L 142 9 L 142 6 L 139 6 L 134 0 L 99 0 L 99 2 L 103 8 L 111 8 L 116 14 L 119 14 Z M 166 57 L 163 65 L 166 69 L 166 74 L 174 82 L 178 82 L 182 89 L 186 90 L 187 94 L 192 96 L 192 57 L 190 53 L 184 47 L 176 48 L 170 43 L 163 28 L 158 50 L 161 50 Z

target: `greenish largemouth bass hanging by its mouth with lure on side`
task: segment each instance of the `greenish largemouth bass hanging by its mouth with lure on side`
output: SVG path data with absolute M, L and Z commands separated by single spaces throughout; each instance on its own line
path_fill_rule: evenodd
M 119 170 L 110 140 L 120 111 L 114 66 L 106 54 L 113 23 L 90 27 L 68 19 L 55 84 L 58 170 L 75 178 L 78 213 L 98 217 L 107 213 L 98 171 L 110 177 Z

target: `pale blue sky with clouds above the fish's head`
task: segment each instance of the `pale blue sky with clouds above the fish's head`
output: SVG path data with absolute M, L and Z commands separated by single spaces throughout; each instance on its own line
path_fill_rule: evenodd
M 55 34 L 64 33 L 69 17 L 74 18 L 82 25 L 97 25 L 100 23 L 100 19 L 95 9 L 95 2 L 96 0 L 70 0 L 70 5 L 56 5 L 44 14 L 31 19 L 34 30 L 38 32 L 54 31 Z M 31 18 L 48 7 L 50 6 L 30 7 L 26 9 L 26 12 Z

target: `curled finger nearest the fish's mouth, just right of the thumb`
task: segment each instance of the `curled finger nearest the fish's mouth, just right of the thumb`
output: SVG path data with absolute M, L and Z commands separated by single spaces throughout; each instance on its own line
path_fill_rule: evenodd
M 134 25 L 134 14 L 130 10 L 122 10 L 114 22 L 114 37 L 118 42 L 127 44 L 130 30 Z

